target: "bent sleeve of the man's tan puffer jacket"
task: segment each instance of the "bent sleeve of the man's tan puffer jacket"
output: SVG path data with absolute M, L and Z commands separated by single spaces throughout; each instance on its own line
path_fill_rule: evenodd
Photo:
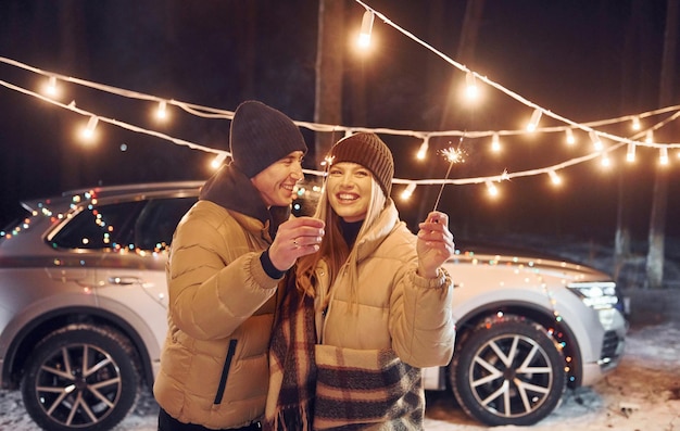
M 234 219 L 215 228 L 201 217 L 182 219 L 173 239 L 167 283 L 171 318 L 199 340 L 229 337 L 276 292 L 278 279 L 267 276 Z M 226 232 L 226 233 L 225 233 Z

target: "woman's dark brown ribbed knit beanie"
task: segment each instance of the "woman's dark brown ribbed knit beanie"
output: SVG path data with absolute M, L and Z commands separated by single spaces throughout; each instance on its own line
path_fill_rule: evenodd
M 331 164 L 352 162 L 364 166 L 376 178 L 386 197 L 392 191 L 394 160 L 376 134 L 358 132 L 340 139 L 330 149 Z

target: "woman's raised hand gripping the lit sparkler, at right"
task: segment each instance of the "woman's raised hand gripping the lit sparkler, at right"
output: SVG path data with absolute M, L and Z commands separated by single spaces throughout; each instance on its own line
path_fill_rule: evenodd
M 449 231 L 449 216 L 433 211 L 425 221 L 418 225 L 418 275 L 426 278 L 437 277 L 441 265 L 453 256 L 455 244 L 453 233 Z

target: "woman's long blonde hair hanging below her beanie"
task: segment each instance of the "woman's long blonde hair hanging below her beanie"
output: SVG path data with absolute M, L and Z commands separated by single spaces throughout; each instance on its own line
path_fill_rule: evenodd
M 356 300 L 358 276 L 356 274 L 356 246 L 387 205 L 388 199 L 378 185 L 378 181 L 376 181 L 375 177 L 372 175 L 370 202 L 368 203 L 366 217 L 356 234 L 354 245 L 350 249 L 340 230 L 340 216 L 332 210 L 328 201 L 328 190 L 326 186 L 326 182 L 324 182 L 322 195 L 314 213 L 315 218 L 319 218 L 326 223 L 326 234 L 322 240 L 320 249 L 317 253 L 308 254 L 298 259 L 298 264 L 295 265 L 295 286 L 300 291 L 311 296 L 316 296 L 317 280 L 315 279 L 314 270 L 318 262 L 324 259 L 328 266 L 329 286 L 332 286 L 336 281 L 342 267 L 347 266 L 345 270 L 349 271 L 352 282 L 350 287 L 351 296 L 353 300 Z M 326 304 L 324 304 L 324 306 Z

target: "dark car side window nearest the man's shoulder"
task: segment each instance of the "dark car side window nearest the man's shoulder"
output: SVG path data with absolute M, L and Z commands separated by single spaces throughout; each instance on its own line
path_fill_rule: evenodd
M 135 245 L 141 250 L 165 250 L 177 224 L 194 202 L 196 198 L 148 201 L 135 224 Z

